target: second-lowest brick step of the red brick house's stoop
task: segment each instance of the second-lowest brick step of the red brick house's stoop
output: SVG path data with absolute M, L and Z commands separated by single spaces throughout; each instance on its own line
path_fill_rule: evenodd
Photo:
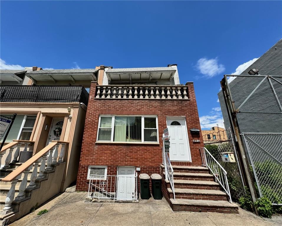
M 171 188 L 167 188 L 170 198 L 173 198 Z M 221 200 L 227 201 L 226 193 L 220 190 L 175 188 L 175 198 L 194 200 Z

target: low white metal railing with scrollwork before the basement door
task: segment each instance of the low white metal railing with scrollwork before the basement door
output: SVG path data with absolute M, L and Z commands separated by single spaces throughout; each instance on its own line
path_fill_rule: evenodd
M 91 174 L 88 187 L 88 197 L 102 199 L 102 200 L 127 200 L 134 201 L 138 199 L 137 195 L 137 172 L 135 176 L 126 176 L 126 175 L 94 175 Z M 119 184 L 119 181 L 124 179 L 123 184 Z M 129 180 L 128 180 L 129 179 Z M 131 186 L 134 186 L 134 191 L 132 196 L 128 197 L 119 197 L 118 192 L 125 188 L 125 194 L 127 194 L 128 183 L 131 183 Z M 124 185 L 122 187 L 122 185 Z M 129 186 L 130 187 L 130 186 Z

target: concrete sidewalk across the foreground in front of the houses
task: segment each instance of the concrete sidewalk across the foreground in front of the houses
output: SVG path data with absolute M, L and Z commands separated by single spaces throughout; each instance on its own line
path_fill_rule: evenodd
M 11 226 L 65 225 L 201 225 L 258 226 L 282 225 L 282 217 L 258 217 L 239 208 L 239 214 L 173 212 L 165 199 L 138 203 L 84 202 L 87 192 L 65 192 Z M 48 212 L 38 216 L 40 210 Z

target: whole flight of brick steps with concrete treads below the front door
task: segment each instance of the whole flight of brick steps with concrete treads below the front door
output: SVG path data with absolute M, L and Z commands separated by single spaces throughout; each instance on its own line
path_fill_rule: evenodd
M 174 192 L 165 180 L 163 169 L 163 195 L 173 211 L 238 213 L 238 205 L 228 202 L 228 195 L 220 190 L 208 168 L 173 165 Z

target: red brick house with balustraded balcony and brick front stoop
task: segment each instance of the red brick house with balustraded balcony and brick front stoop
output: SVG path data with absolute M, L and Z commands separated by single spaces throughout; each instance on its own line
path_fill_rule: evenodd
M 137 177 L 161 174 L 163 195 L 173 210 L 237 212 L 202 167 L 194 85 L 179 84 L 177 65 L 107 67 L 103 76 L 90 87 L 76 190 L 90 189 L 94 198 L 137 200 Z M 162 151 L 166 128 L 169 159 Z M 175 192 L 171 180 L 164 180 L 164 158 L 175 170 Z

